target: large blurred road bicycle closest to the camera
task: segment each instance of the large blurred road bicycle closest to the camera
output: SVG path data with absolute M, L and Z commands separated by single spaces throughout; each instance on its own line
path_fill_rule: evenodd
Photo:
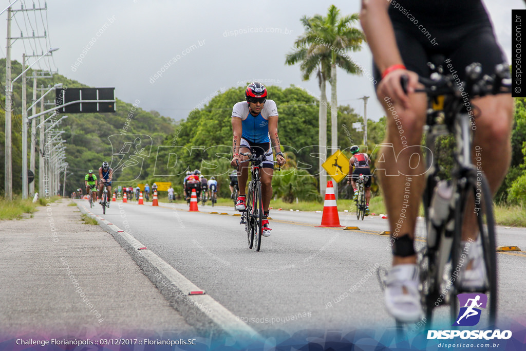
M 427 235 L 426 245 L 417 252 L 421 304 L 426 323 L 431 323 L 434 308 L 448 304 L 454 322 L 460 307 L 465 307 L 459 306 L 457 295 L 483 293 L 488 297 L 487 322 L 491 326 L 497 318 L 498 297 L 492 193 L 480 167 L 472 163 L 472 151 L 477 150 L 472 144 L 473 117 L 463 98 L 466 93 L 462 92 L 470 97 L 509 93 L 509 69 L 498 65 L 493 77 L 481 78 L 480 64 L 473 63 L 466 68 L 467 82 L 458 84 L 451 75 L 443 74 L 443 57 L 434 57 L 433 61 L 428 64 L 433 73 L 430 78 L 420 77 L 424 88 L 416 90 L 428 95 L 429 105 L 424 126 L 427 171 L 422 196 Z M 407 77 L 402 79 L 402 86 L 404 89 L 407 86 Z M 462 92 L 459 87 L 463 87 Z M 434 157 L 437 138 L 448 134 L 455 140 L 449 179 L 440 176 L 444 165 Z M 477 240 L 482 249 L 485 277 L 481 286 L 467 288 L 462 286 L 462 277 L 469 247 L 462 241 L 462 229 L 464 217 L 470 212 L 477 217 Z M 397 325 L 402 324 L 397 321 Z

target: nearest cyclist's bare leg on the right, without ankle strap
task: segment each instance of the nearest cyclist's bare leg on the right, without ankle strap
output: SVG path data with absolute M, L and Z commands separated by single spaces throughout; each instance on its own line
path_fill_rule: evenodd
M 511 161 L 511 129 L 513 126 L 513 98 L 506 94 L 473 99 L 477 111 L 474 119 L 473 164 L 483 171 L 494 195 L 508 172 Z M 474 198 L 466 206 L 462 239 L 477 239 L 477 215 Z M 472 262 L 467 269 L 471 268 Z

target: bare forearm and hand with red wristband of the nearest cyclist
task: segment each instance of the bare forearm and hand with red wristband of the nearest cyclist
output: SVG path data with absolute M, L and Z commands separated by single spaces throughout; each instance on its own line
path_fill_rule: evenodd
M 367 37 L 372 56 L 381 73 L 393 65 L 403 65 L 396 44 L 395 31 L 388 15 L 389 6 L 391 3 L 386 0 L 362 0 L 360 12 L 363 33 Z M 404 94 L 400 85 L 402 75 L 409 77 L 408 92 L 413 92 L 418 83 L 418 76 L 416 73 L 409 73 L 405 69 L 397 69 L 389 73 L 382 79 L 378 90 L 381 95 L 390 96 L 395 101 L 402 102 L 407 108 L 409 107 L 409 98 Z

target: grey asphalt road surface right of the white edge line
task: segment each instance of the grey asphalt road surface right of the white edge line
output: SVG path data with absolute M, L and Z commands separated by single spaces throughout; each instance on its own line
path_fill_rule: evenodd
M 85 206 L 86 202 L 79 202 Z M 89 207 L 89 206 L 88 206 Z M 316 228 L 321 213 L 271 210 L 272 235 L 249 249 L 232 207 L 112 203 L 103 216 L 148 247 L 257 332 L 392 327 L 377 269 L 390 265 L 386 219 L 340 212 L 343 226 Z M 228 215 L 210 214 L 210 211 Z M 96 205 L 92 212 L 102 216 Z M 417 236 L 422 236 L 419 220 Z M 526 249 L 524 228 L 498 228 L 498 245 Z M 418 242 L 422 245 L 422 242 Z M 499 253 L 499 316 L 526 319 L 526 253 Z M 439 315 L 447 315 L 441 308 Z

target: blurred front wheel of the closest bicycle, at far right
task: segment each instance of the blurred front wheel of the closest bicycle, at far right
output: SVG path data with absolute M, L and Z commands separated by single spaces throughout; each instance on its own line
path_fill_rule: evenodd
M 495 220 L 493 217 L 493 200 L 488 184 L 488 180 L 485 175 L 478 173 L 475 170 L 469 171 L 466 175 L 466 185 L 463 188 L 463 194 L 459 200 L 463 211 L 458 211 L 456 216 L 456 233 L 453 241 L 452 248 L 452 274 L 456 267 L 459 269 L 460 280 L 456 279 L 453 283 L 454 293 L 484 293 L 488 297 L 488 303 L 486 310 L 488 311 L 488 323 L 489 326 L 495 324 L 497 319 L 497 254 L 495 252 Z M 467 244 L 462 243 L 461 230 L 464 216 L 466 213 L 473 211 L 477 217 L 477 230 L 480 235 L 481 246 L 482 246 L 482 258 L 484 260 L 485 268 L 485 279 L 480 287 L 463 288 L 461 287 L 461 279 L 468 260 L 462 257 L 466 257 L 466 252 L 469 252 L 470 248 L 474 248 L 475 242 L 471 242 L 468 247 Z M 459 300 L 456 296 L 451 297 L 451 317 L 457 318 L 460 307 Z

